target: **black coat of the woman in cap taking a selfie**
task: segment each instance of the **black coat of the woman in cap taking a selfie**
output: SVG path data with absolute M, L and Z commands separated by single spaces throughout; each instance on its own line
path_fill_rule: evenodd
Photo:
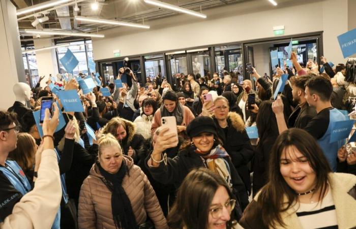
M 146 158 L 145 165 L 149 169 L 152 177 L 162 184 L 174 184 L 176 188 L 180 187 L 184 178 L 193 168 L 206 167 L 205 160 L 191 150 L 180 151 L 173 159 L 167 158 L 167 165 L 160 163 L 158 167 L 148 166 L 147 161 L 149 161 L 149 159 L 150 156 Z M 227 161 L 230 167 L 233 186 L 232 191 L 240 201 L 241 208 L 245 209 L 249 204 L 245 185 L 230 158 L 228 158 Z

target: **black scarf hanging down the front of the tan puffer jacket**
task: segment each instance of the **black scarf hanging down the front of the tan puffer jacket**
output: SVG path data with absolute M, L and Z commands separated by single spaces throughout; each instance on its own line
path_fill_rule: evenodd
M 138 228 L 130 199 L 122 186 L 124 177 L 128 172 L 125 161 L 122 162 L 121 167 L 116 174 L 108 173 L 101 167 L 99 162 L 97 162 L 97 165 L 101 175 L 105 178 L 106 181 L 111 182 L 113 186 L 111 193 L 111 208 L 115 227 L 121 227 L 123 229 Z

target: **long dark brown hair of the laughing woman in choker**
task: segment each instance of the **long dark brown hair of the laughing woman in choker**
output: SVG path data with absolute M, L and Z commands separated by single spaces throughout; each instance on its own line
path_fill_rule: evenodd
M 314 170 L 316 174 L 315 190 L 320 190 L 319 201 L 327 191 L 328 174 L 332 170 L 314 137 L 307 131 L 298 128 L 284 131 L 276 139 L 272 148 L 269 161 L 269 182 L 261 189 L 257 200 L 265 227 L 275 228 L 278 224 L 285 226 L 280 213 L 292 207 L 298 196 L 285 182 L 280 172 L 281 155 L 283 152 L 289 153 L 290 147 L 295 147 L 301 152 Z M 285 197 L 287 197 L 287 203 L 285 203 Z

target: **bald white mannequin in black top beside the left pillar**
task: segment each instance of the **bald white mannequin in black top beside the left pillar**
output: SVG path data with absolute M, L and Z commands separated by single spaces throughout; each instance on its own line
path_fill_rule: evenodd
M 20 122 L 24 113 L 28 110 L 31 110 L 26 107 L 26 102 L 29 101 L 31 97 L 31 88 L 28 84 L 24 82 L 15 83 L 14 87 L 12 88 L 15 94 L 15 103 L 12 107 L 8 109 L 9 112 L 13 111 L 17 113 L 17 120 Z

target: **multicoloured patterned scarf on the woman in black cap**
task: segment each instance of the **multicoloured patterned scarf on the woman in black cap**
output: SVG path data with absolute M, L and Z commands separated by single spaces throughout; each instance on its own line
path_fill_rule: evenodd
M 218 145 L 205 154 L 199 151 L 195 146 L 192 146 L 191 149 L 205 160 L 207 168 L 219 174 L 226 183 L 232 187 L 231 171 L 227 162 L 227 158 L 230 156 L 222 146 Z

